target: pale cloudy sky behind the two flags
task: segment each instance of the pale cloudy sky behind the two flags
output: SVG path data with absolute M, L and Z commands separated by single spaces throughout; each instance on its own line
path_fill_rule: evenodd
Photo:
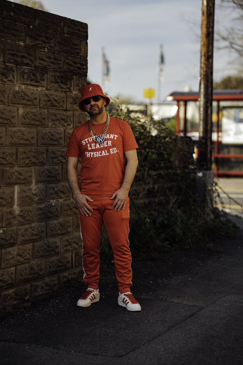
M 53 14 L 88 24 L 88 79 L 109 96 L 131 96 L 144 103 L 147 88 L 155 89 L 155 100 L 188 86 L 198 91 L 202 0 L 41 1 Z M 220 0 L 215 2 L 217 27 L 228 18 Z M 159 85 L 160 45 L 165 65 Z M 111 71 L 109 84 L 102 84 L 102 47 Z M 227 50 L 215 50 L 216 81 L 232 73 L 229 59 Z

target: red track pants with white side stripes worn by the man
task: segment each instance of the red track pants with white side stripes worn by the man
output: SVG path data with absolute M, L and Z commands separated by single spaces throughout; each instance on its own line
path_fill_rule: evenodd
M 89 202 L 93 212 L 86 217 L 79 212 L 80 233 L 83 241 L 84 282 L 89 288 L 99 288 L 100 238 L 103 222 L 107 227 L 113 250 L 116 277 L 120 293 L 130 291 L 132 285 L 131 252 L 129 249 L 129 198 L 125 209 L 112 208 L 114 200 Z

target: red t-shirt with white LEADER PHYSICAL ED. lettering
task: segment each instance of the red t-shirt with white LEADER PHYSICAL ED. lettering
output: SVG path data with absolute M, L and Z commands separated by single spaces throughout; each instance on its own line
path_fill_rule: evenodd
M 101 134 L 105 123 L 93 124 Z M 124 152 L 137 149 L 131 127 L 124 120 L 110 117 L 105 141 L 96 143 L 89 132 L 89 122 L 73 130 L 66 156 L 81 156 L 81 193 L 93 200 L 110 199 L 120 189 L 125 174 Z

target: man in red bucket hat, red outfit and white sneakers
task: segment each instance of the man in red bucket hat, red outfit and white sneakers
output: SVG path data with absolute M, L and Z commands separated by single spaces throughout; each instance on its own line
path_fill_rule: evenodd
M 67 179 L 80 216 L 84 282 L 88 286 L 77 306 L 89 307 L 100 299 L 99 249 L 104 222 L 114 255 L 118 304 L 129 311 L 140 311 L 130 291 L 132 270 L 128 241 L 128 192 L 138 166 L 138 145 L 127 122 L 106 114 L 109 102 L 99 85 L 82 88 L 79 107 L 89 114 L 90 120 L 73 130 L 66 153 Z M 81 187 L 77 178 L 80 156 Z

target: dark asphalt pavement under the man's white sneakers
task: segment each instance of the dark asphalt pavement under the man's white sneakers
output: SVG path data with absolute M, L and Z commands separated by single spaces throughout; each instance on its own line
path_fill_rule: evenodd
M 113 263 L 103 264 L 101 298 L 90 307 L 76 306 L 81 282 L 1 320 L 2 364 L 243 364 L 242 262 L 243 231 L 213 250 L 135 259 L 141 312 L 118 306 Z

